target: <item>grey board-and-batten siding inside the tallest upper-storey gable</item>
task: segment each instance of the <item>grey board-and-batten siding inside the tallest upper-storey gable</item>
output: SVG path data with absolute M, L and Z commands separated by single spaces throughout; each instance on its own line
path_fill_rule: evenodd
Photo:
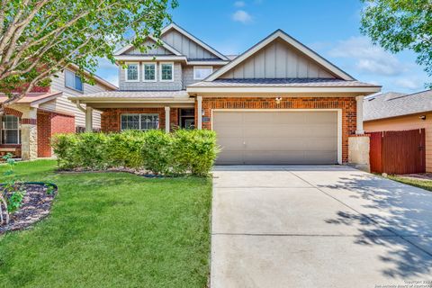
M 174 29 L 167 31 L 162 36 L 162 40 L 189 59 L 219 59 L 218 56 Z

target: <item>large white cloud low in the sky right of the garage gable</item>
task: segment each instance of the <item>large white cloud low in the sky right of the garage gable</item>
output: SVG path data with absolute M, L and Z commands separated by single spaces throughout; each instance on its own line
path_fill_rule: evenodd
M 397 76 L 408 68 L 394 55 L 374 46 L 366 37 L 341 40 L 336 47 L 330 49 L 329 55 L 334 58 L 353 58 L 357 70 L 374 75 Z

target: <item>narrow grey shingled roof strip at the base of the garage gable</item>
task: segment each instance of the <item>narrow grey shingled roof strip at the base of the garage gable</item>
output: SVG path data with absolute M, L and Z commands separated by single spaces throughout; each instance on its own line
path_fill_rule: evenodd
M 381 87 L 360 81 L 347 81 L 333 78 L 256 78 L 256 79 L 216 79 L 202 81 L 189 87 L 248 87 L 248 86 L 283 86 L 283 87 Z

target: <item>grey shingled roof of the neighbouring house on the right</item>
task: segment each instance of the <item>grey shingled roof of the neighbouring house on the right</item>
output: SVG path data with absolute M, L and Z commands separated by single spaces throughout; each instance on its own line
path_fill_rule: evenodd
M 415 94 L 384 93 L 365 98 L 364 121 L 432 111 L 432 90 Z

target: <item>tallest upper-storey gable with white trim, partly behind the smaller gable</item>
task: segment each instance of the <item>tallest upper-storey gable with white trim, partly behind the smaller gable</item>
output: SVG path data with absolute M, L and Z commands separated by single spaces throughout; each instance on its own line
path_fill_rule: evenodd
M 160 38 L 191 59 L 221 59 L 229 60 L 225 55 L 193 36 L 175 23 L 167 25 Z

